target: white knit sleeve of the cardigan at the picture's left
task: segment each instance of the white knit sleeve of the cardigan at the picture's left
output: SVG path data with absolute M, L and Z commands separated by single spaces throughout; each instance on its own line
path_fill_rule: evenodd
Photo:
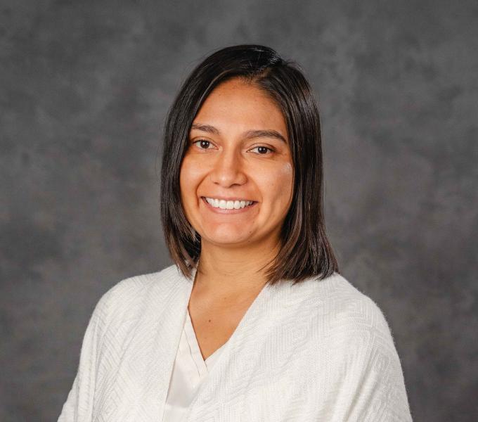
M 98 352 L 108 314 L 109 292 L 98 301 L 84 333 L 75 381 L 67 396 L 58 422 L 92 421 Z

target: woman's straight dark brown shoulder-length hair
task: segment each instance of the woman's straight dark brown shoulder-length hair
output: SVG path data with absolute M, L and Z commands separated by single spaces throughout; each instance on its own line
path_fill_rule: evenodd
M 240 77 L 276 102 L 285 117 L 294 167 L 293 198 L 280 231 L 280 249 L 268 263 L 267 283 L 293 284 L 339 272 L 325 234 L 321 124 L 311 87 L 297 63 L 266 46 L 229 46 L 205 58 L 183 82 L 167 113 L 161 168 L 161 221 L 172 260 L 192 276 L 201 252 L 200 235 L 181 203 L 179 172 L 191 124 L 202 103 L 221 82 Z

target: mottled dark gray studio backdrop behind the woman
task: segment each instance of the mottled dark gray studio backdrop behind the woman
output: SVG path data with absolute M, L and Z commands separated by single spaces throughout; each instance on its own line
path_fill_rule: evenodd
M 476 421 L 477 5 L 1 1 L 0 420 L 56 420 L 97 300 L 172 263 L 165 113 L 207 54 L 257 43 L 319 98 L 330 238 L 415 421 Z

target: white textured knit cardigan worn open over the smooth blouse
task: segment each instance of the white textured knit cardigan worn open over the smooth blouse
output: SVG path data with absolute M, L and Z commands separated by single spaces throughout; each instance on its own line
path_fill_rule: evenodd
M 192 287 L 172 265 L 105 293 L 58 421 L 161 421 Z M 411 414 L 385 316 L 334 274 L 264 286 L 185 421 L 398 422 Z

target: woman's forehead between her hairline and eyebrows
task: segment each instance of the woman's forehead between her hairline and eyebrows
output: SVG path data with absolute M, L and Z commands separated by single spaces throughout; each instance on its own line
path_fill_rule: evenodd
M 275 129 L 287 136 L 285 118 L 277 103 L 254 84 L 238 78 L 219 84 L 207 96 L 194 123 L 229 129 Z

